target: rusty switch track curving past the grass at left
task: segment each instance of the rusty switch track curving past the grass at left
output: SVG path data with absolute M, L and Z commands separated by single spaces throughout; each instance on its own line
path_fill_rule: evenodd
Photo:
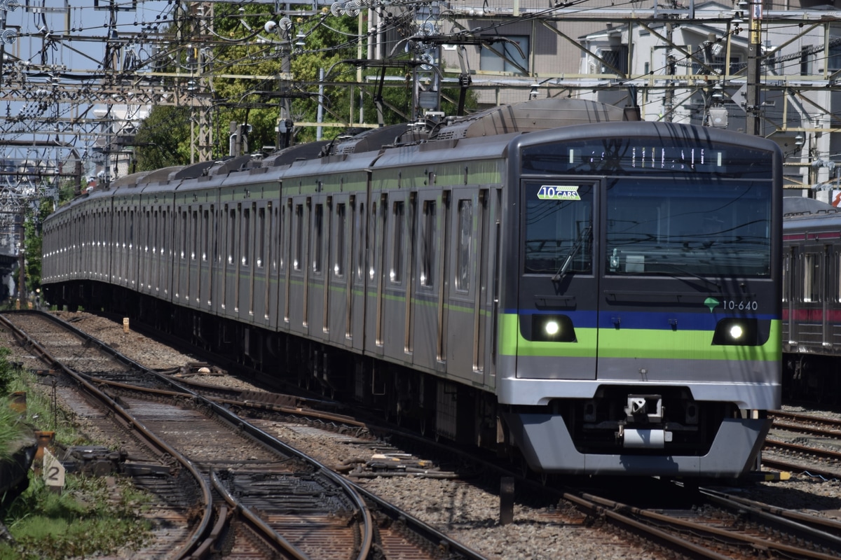
M 434 558 L 440 557 L 442 543 L 450 557 L 480 557 L 431 527 L 407 522 L 410 516 L 405 512 L 367 501 L 370 497 L 340 475 L 214 402 L 177 385 L 162 389 L 169 381 L 165 376 L 99 346 L 82 332 L 75 331 L 68 342 L 66 335 L 56 334 L 68 326 L 40 314 L 13 313 L 3 322 L 18 332 L 22 344 L 61 370 L 62 377 L 74 379 L 88 395 L 107 404 L 110 411 L 100 412 L 100 419 L 119 414 L 124 429 L 145 442 L 141 447 L 177 459 L 173 484 L 196 498 L 175 500 L 180 505 L 176 510 L 185 519 L 195 510 L 202 514 L 188 534 L 176 537 L 181 546 L 168 542 L 175 552 L 161 557 L 207 557 L 223 547 L 231 531 L 251 536 L 247 554 L 263 552 L 262 557 L 344 559 L 353 551 L 351 557 L 367 558 L 376 545 L 380 550 L 399 549 L 405 558 Z M 77 371 L 82 368 L 100 375 Z M 137 468 L 135 461 L 129 463 L 129 470 Z M 185 484 L 182 477 L 188 472 L 191 482 Z M 215 495 L 225 500 L 214 499 Z M 376 506 L 379 520 L 400 519 L 402 527 L 377 526 L 369 503 Z M 236 523 L 248 530 L 231 528 L 229 512 L 237 514 Z M 407 538 L 406 532 L 413 537 Z M 434 540 L 424 544 L 421 536 Z

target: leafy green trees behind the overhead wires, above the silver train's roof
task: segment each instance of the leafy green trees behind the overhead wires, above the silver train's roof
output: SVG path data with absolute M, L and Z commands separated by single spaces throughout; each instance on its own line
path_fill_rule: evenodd
M 154 107 L 135 136 L 135 170 L 187 164 L 193 140 L 190 125 L 192 122 L 198 127 L 202 110 L 207 112 L 206 118 L 213 129 L 214 158 L 229 153 L 231 123 L 251 127 L 248 138 L 251 152 L 276 144 L 280 118 L 291 118 L 297 125 L 294 144 L 315 140 L 316 128 L 299 124 L 315 123 L 317 120 L 319 92 L 313 84 L 320 81 L 321 71 L 327 74 L 322 93 L 324 123 L 358 122 L 360 102 L 365 121 L 377 122 L 373 98 L 378 90 L 377 84 L 368 83 L 362 88 L 350 85 L 357 81 L 357 65 L 352 61 L 364 59 L 367 52 L 364 44 L 360 49 L 358 41 L 360 19 L 335 17 L 328 10 L 320 13 L 302 10 L 300 15 L 287 14 L 293 22 L 291 29 L 281 32 L 275 28 L 274 32 L 267 33 L 263 25 L 268 21 L 277 22 L 280 17 L 272 13 L 271 5 L 214 4 L 214 33 L 220 40 L 214 45 L 212 55 L 204 55 L 203 59 L 212 60 L 214 76 L 202 80 L 205 108 Z M 177 29 L 168 31 L 173 44 L 177 44 L 177 32 Z M 299 35 L 303 37 L 303 47 L 297 44 Z M 363 37 L 363 40 L 368 39 Z M 183 72 L 191 68 L 193 59 L 188 55 L 196 53 L 188 51 L 183 48 L 181 58 L 176 57 L 171 67 L 161 70 Z M 198 76 L 202 76 L 198 66 L 192 67 L 198 71 Z M 365 76 L 379 73 L 376 66 L 362 72 Z M 389 80 L 383 87 L 384 124 L 412 120 L 410 74 L 410 65 L 388 69 L 388 76 L 398 76 L 400 80 Z M 204 76 L 211 76 L 211 73 Z M 176 83 L 167 78 L 164 85 L 184 87 L 188 79 L 179 78 Z M 345 83 L 348 86 L 344 86 Z M 443 92 L 442 111 L 455 114 L 457 100 L 458 89 Z M 468 97 L 468 107 L 475 105 L 474 97 Z M 324 127 L 322 137 L 331 139 L 342 132 L 343 127 Z

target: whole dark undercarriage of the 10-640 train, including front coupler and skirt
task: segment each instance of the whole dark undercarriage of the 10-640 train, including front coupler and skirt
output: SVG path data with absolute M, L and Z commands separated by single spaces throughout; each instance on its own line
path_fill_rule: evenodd
M 253 380 L 264 385 L 281 391 L 295 386 L 343 403 L 352 401 L 427 436 L 484 447 L 497 456 L 513 459 L 524 471 L 528 469 L 526 463 L 532 463 L 532 468 L 554 465 L 549 472 L 581 473 L 593 468 L 590 465 L 601 464 L 605 474 L 621 474 L 621 465 L 632 460 L 641 463 L 644 470 L 660 469 L 667 476 L 669 468 L 685 463 L 685 467 L 674 469 L 673 474 L 680 475 L 684 469 L 699 469 L 707 453 L 710 458 L 721 456 L 722 446 L 729 448 L 734 438 L 743 441 L 747 434 L 757 445 L 764 439 L 764 435 L 751 432 L 754 427 L 745 427 L 764 420 L 739 418 L 738 408 L 727 403 L 696 403 L 685 390 L 660 388 L 664 390 L 659 391 L 656 401 L 662 408 L 647 411 L 643 420 L 628 408 L 639 398 L 653 400 L 653 395 L 631 395 L 634 387 L 606 389 L 588 401 L 505 406 L 497 403 L 492 393 L 401 364 L 172 306 L 122 287 L 68 282 L 50 285 L 46 292 L 50 305 L 69 311 L 82 308 L 121 313 L 130 317 L 131 324 L 148 325 L 241 364 Z M 647 389 L 657 392 L 658 388 Z M 668 415 L 664 411 L 669 411 Z M 657 417 L 652 419 L 652 413 Z M 652 434 L 660 432 L 663 441 L 653 445 L 657 438 Z M 636 437 L 638 441 L 633 441 L 637 444 L 629 444 L 632 440 L 628 437 Z M 535 447 L 531 442 L 553 444 Z M 744 460 L 749 462 L 758 453 L 759 447 L 748 450 Z M 669 468 L 660 464 L 663 461 Z

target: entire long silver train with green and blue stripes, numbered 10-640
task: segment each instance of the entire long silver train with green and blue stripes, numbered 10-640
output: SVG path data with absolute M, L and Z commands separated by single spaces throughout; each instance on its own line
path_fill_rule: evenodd
M 542 99 L 126 176 L 45 221 L 46 301 L 544 475 L 738 478 L 780 406 L 780 149 L 634 114 Z

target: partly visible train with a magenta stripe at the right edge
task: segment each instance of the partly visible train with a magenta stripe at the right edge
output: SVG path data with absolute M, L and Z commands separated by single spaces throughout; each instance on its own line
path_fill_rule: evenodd
M 841 212 L 810 198 L 783 199 L 785 395 L 841 397 Z

